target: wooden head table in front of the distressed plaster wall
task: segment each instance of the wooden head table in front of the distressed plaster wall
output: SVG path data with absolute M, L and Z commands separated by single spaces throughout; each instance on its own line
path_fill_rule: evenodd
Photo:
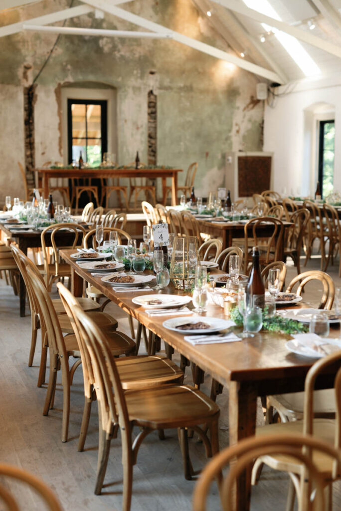
M 44 198 L 48 198 L 49 179 L 86 179 L 86 178 L 120 178 L 120 177 L 147 177 L 148 179 L 162 179 L 162 195 L 165 198 L 166 179 L 172 180 L 172 205 L 177 204 L 178 173 L 182 169 L 35 169 L 42 175 Z

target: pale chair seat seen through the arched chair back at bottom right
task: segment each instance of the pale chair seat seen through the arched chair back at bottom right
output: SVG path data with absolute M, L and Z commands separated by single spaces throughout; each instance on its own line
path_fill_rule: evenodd
M 313 436 L 324 440 L 328 444 L 334 445 L 336 423 L 333 419 L 314 419 Z M 303 434 L 303 421 L 291 421 L 281 424 L 267 424 L 266 426 L 256 428 L 256 436 L 269 435 L 290 435 Z M 290 456 L 271 455 L 262 456 L 261 460 L 269 467 L 275 470 L 283 470 L 299 474 L 301 464 Z M 327 475 L 332 471 L 333 460 L 322 452 L 313 452 L 312 461 L 319 472 Z

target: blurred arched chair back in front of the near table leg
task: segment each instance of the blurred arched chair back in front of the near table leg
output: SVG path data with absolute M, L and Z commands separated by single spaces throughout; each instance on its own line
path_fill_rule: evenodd
M 311 455 L 312 454 L 312 455 Z M 220 479 L 222 470 L 225 466 L 234 461 L 233 466 L 227 472 L 221 489 L 221 502 L 223 511 L 232 511 L 234 509 L 232 502 L 233 486 L 236 478 L 250 467 L 254 460 L 256 463 L 259 458 L 271 456 L 282 456 L 284 459 L 291 459 L 293 463 L 302 468 L 302 474 L 314 487 L 314 509 L 327 511 L 325 505 L 323 476 L 319 473 L 318 463 L 315 463 L 315 457 L 330 457 L 330 464 L 334 463 L 338 467 L 340 463 L 340 454 L 337 449 L 327 444 L 322 439 L 313 438 L 302 434 L 273 434 L 262 437 L 245 438 L 237 444 L 224 449 L 210 460 L 200 474 L 199 480 L 193 493 L 193 511 L 207 511 L 207 497 L 210 486 L 214 479 Z M 309 496 L 309 485 L 302 484 L 298 486 L 299 511 L 311 511 L 311 503 L 307 503 Z M 264 494 L 264 498 L 265 498 Z M 266 505 L 264 503 L 264 505 Z M 305 507 L 304 507 L 305 506 Z

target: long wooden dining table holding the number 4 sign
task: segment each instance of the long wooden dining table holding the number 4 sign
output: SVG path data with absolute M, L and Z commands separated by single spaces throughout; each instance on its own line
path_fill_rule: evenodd
M 112 286 L 83 270 L 70 258 L 71 250 L 61 250 L 62 258 L 72 267 L 71 289 L 75 296 L 81 296 L 84 280 L 95 285 L 120 308 L 136 318 L 175 350 L 208 371 L 222 385 L 229 389 L 229 437 L 230 445 L 242 438 L 254 435 L 256 428 L 257 397 L 283 392 L 298 392 L 304 389 L 307 371 L 314 360 L 301 358 L 285 348 L 289 335 L 271 332 L 259 333 L 253 338 L 239 342 L 193 346 L 184 340 L 184 335 L 167 330 L 162 326 L 167 316 L 149 317 L 142 307 L 134 305 L 132 299 L 137 293 L 116 293 Z M 183 294 L 168 286 L 162 292 Z M 138 293 L 141 295 L 143 293 Z M 149 294 L 153 294 L 152 292 Z M 224 317 L 223 310 L 210 306 L 207 315 Z M 173 316 L 172 316 L 173 317 Z M 335 336 L 337 332 L 334 330 Z M 333 386 L 336 367 L 322 375 L 316 388 Z M 236 511 L 247 511 L 250 506 L 251 472 L 238 478 L 234 502 Z

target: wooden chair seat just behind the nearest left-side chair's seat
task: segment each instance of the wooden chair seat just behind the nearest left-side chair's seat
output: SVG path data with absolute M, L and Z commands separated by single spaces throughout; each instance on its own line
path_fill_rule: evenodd
M 116 366 L 125 390 L 182 383 L 184 376 L 180 367 L 161 355 L 119 358 Z

